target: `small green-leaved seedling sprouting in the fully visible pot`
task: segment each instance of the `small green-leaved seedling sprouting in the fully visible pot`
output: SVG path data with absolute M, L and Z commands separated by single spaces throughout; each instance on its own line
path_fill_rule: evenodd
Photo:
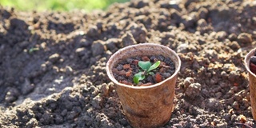
M 160 65 L 160 61 L 155 62 L 152 66 L 151 66 L 151 62 L 142 62 L 142 61 L 138 62 L 138 66 L 142 70 L 138 72 L 138 74 L 134 75 L 134 83 L 138 84 L 138 82 L 146 78 L 147 75 L 154 74 L 153 72 L 151 72 L 151 70 L 158 68 L 159 65 Z

